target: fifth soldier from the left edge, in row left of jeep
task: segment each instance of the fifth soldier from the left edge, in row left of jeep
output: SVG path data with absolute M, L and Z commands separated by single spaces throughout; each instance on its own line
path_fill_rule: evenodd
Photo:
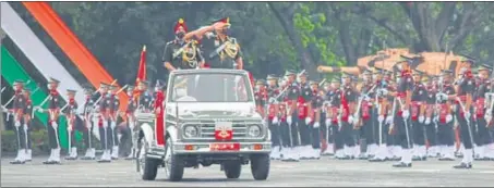
M 117 86 L 109 86 L 110 95 L 108 96 L 106 103 L 107 103 L 107 114 L 109 117 L 109 125 L 110 125 L 110 134 L 108 135 L 108 139 L 111 140 L 111 160 L 119 159 L 119 137 L 117 130 L 117 118 L 119 117 L 119 109 L 120 109 L 120 99 L 117 96 L 118 87 Z

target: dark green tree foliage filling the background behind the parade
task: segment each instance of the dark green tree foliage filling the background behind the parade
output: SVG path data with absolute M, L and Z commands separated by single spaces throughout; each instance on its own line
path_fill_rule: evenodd
M 448 3 L 454 3 L 454 11 L 439 20 Z M 12 4 L 57 58 L 65 60 L 68 70 L 80 74 L 25 8 L 19 2 Z M 449 43 L 455 52 L 467 52 L 481 60 L 492 59 L 494 52 L 490 47 L 494 14 L 489 11 L 493 5 L 486 2 L 273 2 L 285 17 L 276 16 L 268 2 L 50 4 L 121 84 L 135 79 L 143 45 L 148 49 L 149 77 L 167 74 L 162 70 L 162 50 L 173 39 L 172 27 L 180 17 L 190 29 L 196 29 L 213 18 L 229 16 L 245 67 L 256 77 L 281 74 L 284 68 L 315 68 L 320 64 L 351 66 L 358 58 L 383 48 L 443 51 L 445 43 Z M 461 22 L 462 18 L 470 22 Z M 282 24 L 285 21 L 289 27 Z M 437 30 L 444 23 L 444 33 Z M 296 48 L 299 41 L 303 49 Z M 308 64 L 303 61 L 308 60 L 313 66 L 304 67 Z M 83 76 L 76 78 L 85 83 Z

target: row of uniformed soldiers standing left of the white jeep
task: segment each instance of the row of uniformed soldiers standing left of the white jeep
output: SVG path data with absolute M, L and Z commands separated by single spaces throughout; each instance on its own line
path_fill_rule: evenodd
M 48 84 L 49 95 L 39 104 L 34 105 L 31 100 L 29 89 L 24 87 L 23 80 L 14 83 L 15 93 L 12 97 L 12 108 L 4 109 L 5 112 L 14 116 L 13 123 L 16 131 L 17 139 L 17 155 L 11 164 L 24 164 L 32 161 L 32 139 L 29 135 L 32 118 L 34 112 L 48 114 L 48 140 L 50 155 L 44 164 L 60 164 L 60 137 L 59 137 L 59 120 L 60 116 L 67 118 L 67 133 L 68 139 L 68 155 L 65 160 L 76 160 L 77 145 L 75 145 L 74 131 L 79 130 L 83 134 L 85 148 L 84 156 L 81 160 L 96 160 L 96 149 L 93 145 L 94 130 L 99 133 L 99 140 L 103 154 L 97 162 L 111 162 L 111 160 L 119 159 L 119 135 L 126 135 L 129 138 L 135 138 L 133 130 L 135 129 L 135 112 L 154 112 L 156 101 L 162 102 L 159 98 L 164 97 L 164 89 L 166 88 L 159 80 L 156 82 L 155 90 L 148 90 L 148 83 L 141 80 L 137 87 L 124 86 L 118 89 L 112 84 L 101 83 L 100 87 L 94 91 L 91 87 L 84 90 L 85 101 L 83 103 L 82 112 L 77 112 L 79 104 L 75 101 L 76 90 L 67 90 L 67 104 L 62 106 L 62 97 L 58 89 L 60 82 L 50 78 Z M 124 112 L 120 112 L 120 99 L 118 93 L 126 88 L 129 96 L 128 106 Z M 39 88 L 38 88 L 39 89 Z M 9 104 L 10 101 L 7 103 Z M 47 109 L 41 106 L 48 103 Z M 3 106 L 7 106 L 3 105 Z M 120 118 L 123 126 L 117 127 L 117 122 Z M 135 158 L 135 140 L 132 140 L 132 150 L 126 159 Z

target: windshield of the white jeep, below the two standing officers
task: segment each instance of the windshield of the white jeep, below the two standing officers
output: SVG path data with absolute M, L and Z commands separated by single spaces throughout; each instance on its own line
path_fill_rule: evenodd
M 251 102 L 249 77 L 236 73 L 177 74 L 171 78 L 170 102 Z

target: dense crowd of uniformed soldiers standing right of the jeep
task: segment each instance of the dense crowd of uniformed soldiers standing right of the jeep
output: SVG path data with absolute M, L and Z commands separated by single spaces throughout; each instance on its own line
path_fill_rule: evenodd
M 270 158 L 298 162 L 327 154 L 411 167 L 412 161 L 462 155 L 455 168 L 494 161 L 492 66 L 482 64 L 474 74 L 474 61 L 467 59 L 455 79 L 449 70 L 432 76 L 411 70 L 412 63 L 402 57 L 400 71 L 374 67 L 360 78 L 342 73 L 330 83 L 293 71 L 256 80 L 257 112 L 272 134 Z

